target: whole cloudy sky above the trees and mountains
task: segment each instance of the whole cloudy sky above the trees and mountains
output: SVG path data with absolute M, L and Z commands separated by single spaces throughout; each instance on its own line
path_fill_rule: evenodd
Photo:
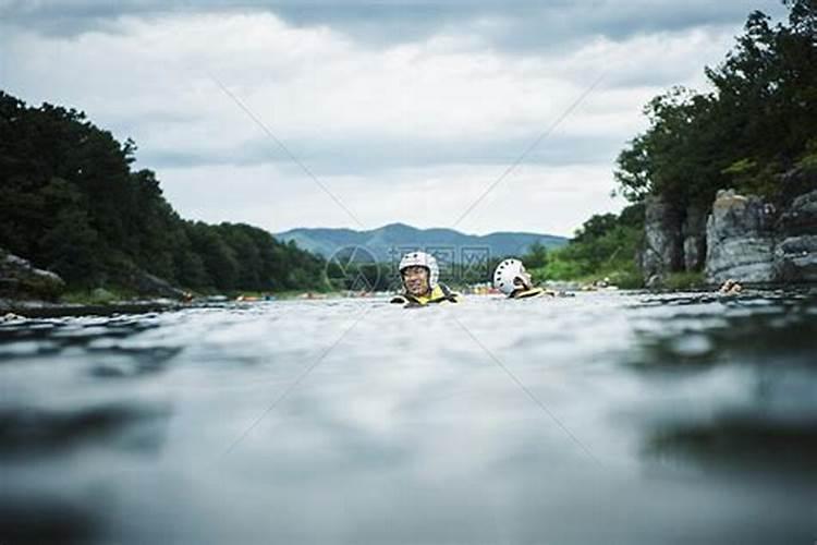
M 133 137 L 187 218 L 571 234 L 623 206 L 614 159 L 644 104 L 706 88 L 751 11 L 783 14 L 505 4 L 0 0 L 0 88 Z

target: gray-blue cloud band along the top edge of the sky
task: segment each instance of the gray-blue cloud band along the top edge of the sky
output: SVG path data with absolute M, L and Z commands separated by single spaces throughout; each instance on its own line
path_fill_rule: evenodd
M 124 15 L 166 15 L 212 11 L 268 11 L 288 23 L 327 25 L 356 40 L 383 45 L 422 39 L 443 31 L 475 28 L 492 46 L 510 50 L 570 47 L 590 36 L 621 40 L 656 32 L 680 32 L 702 25 L 739 25 L 761 10 L 784 13 L 779 0 L 584 0 L 514 2 L 499 0 L 376 0 L 265 1 L 265 0 L 5 0 L 0 19 L 44 34 L 76 35 L 110 29 Z

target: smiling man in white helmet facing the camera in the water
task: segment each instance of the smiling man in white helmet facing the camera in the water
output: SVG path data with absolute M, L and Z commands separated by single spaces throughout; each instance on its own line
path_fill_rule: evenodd
M 458 303 L 459 293 L 439 281 L 437 259 L 425 252 L 410 252 L 400 259 L 400 279 L 403 293 L 391 300 L 406 306 L 426 306 L 432 303 Z

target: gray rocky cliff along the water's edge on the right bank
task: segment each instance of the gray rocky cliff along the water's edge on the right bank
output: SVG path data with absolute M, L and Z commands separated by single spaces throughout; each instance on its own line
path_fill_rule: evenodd
M 723 190 L 708 211 L 679 211 L 649 197 L 641 256 L 646 286 L 702 269 L 712 284 L 817 282 L 817 180 L 797 180 L 801 193 L 782 204 Z

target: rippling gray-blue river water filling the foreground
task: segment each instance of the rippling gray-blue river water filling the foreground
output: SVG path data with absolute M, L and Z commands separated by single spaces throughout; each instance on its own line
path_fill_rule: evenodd
M 817 540 L 817 293 L 0 324 L 0 543 Z

